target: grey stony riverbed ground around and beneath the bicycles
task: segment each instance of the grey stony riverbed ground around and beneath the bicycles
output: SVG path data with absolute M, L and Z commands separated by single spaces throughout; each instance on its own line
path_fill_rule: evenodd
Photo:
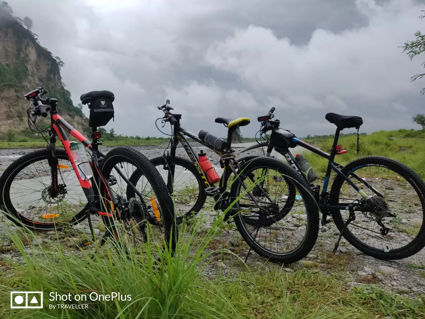
M 113 147 L 102 146 L 100 150 L 106 153 L 112 148 Z M 142 154 L 148 158 L 159 156 L 164 150 L 164 148 L 161 148 L 160 146 L 135 146 L 134 148 L 141 151 Z M 241 148 L 235 147 L 235 149 L 236 153 L 239 154 Z M 31 151 L 33 150 L 19 148 L 1 149 L 0 171 L 10 165 L 14 159 L 17 159 Z M 299 150 L 296 150 L 295 152 L 299 152 Z M 177 154 L 187 156 L 181 148 L 178 149 Z M 260 154 L 260 151 L 257 149 L 244 153 L 241 156 Z M 218 166 L 218 156 L 212 154 L 212 151 L 207 151 L 207 155 L 212 164 Z M 200 214 L 202 214 L 200 218 L 203 219 L 203 231 L 206 232 L 219 214 L 219 212 L 212 210 L 212 199 L 209 198 L 207 200 L 207 203 Z M 417 218 L 418 216 L 415 215 L 414 217 Z M 414 219 L 414 217 L 412 217 L 412 219 Z M 405 222 L 410 223 L 411 220 L 405 220 Z M 95 222 L 94 225 L 100 224 L 96 224 Z M 0 237 L 7 238 L 4 227 L 6 227 L 6 224 L 1 223 Z M 86 231 L 86 227 L 87 226 L 83 224 L 79 228 L 74 228 L 74 238 L 76 238 L 75 236 L 82 236 L 82 233 L 85 233 Z M 98 227 L 100 228 L 100 226 Z M 99 230 L 99 232 L 100 231 L 101 230 Z M 256 255 L 256 253 L 251 252 L 248 258 L 248 265 L 251 267 L 266 268 L 282 267 L 285 272 L 292 272 L 298 268 L 307 268 L 310 271 L 338 273 L 344 278 L 347 288 L 353 285 L 360 285 L 361 283 L 378 283 L 382 288 L 404 293 L 411 297 L 415 296 L 417 293 L 425 293 L 425 250 L 422 250 L 416 255 L 406 259 L 382 261 L 370 256 L 365 256 L 356 248 L 348 244 L 345 239 L 342 239 L 338 252 L 333 255 L 331 251 L 334 248 L 334 243 L 337 240 L 338 234 L 339 232 L 333 223 L 327 224 L 323 228 L 320 226 L 319 238 L 314 249 L 307 258 L 296 264 L 284 266 L 272 264 L 265 262 L 264 259 Z M 39 233 L 37 234 L 37 237 L 38 240 L 32 242 L 33 245 L 48 244 L 55 236 L 49 233 Z M 64 247 L 72 246 L 69 239 L 64 238 L 61 240 Z M 8 239 L 4 242 L 3 239 L 0 240 L 0 260 L 8 258 L 20 260 L 22 258 L 18 251 L 14 251 L 10 247 L 10 244 L 11 243 Z M 30 245 L 30 243 L 28 243 L 28 245 Z M 223 228 L 210 243 L 209 249 L 216 250 L 219 248 L 226 248 L 233 251 L 238 257 L 231 254 L 215 254 L 215 256 L 213 256 L 214 261 L 205 268 L 204 272 L 210 277 L 214 277 L 219 273 L 222 273 L 231 278 L 232 273 L 237 273 L 238 269 L 245 267 L 241 260 L 245 259 L 248 252 L 247 246 L 238 234 L 238 231 L 235 229 L 234 224 L 223 224 Z M 73 250 L 74 248 L 71 247 L 68 249 Z M 79 252 L 75 251 L 75 253 Z M 0 271 L 6 271 L 6 269 L 8 269 L 8 267 L 0 264 Z M 6 272 L 5 276 L 12 276 L 12 274 Z

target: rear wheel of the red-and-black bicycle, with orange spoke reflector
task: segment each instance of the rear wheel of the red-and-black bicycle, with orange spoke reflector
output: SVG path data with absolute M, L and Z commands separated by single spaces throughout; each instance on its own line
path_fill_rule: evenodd
M 147 242 L 149 234 L 150 242 L 163 247 L 165 241 L 174 251 L 178 231 L 173 201 L 149 159 L 131 148 L 117 147 L 102 159 L 100 170 L 109 183 L 113 197 L 119 203 L 115 218 L 103 217 L 108 229 L 115 229 L 118 233 L 114 234 L 115 237 L 139 249 Z M 130 184 L 129 179 L 135 171 L 142 173 L 141 178 Z M 103 183 L 99 186 L 104 205 L 110 207 L 111 195 Z M 151 250 L 153 248 L 151 245 Z

